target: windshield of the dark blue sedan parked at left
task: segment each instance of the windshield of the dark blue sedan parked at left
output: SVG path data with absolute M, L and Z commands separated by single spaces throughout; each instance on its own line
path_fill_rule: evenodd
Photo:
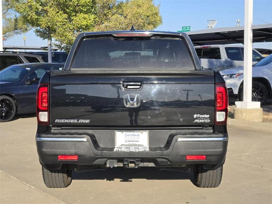
M 12 65 L 0 71 L 0 81 L 20 81 L 31 70 L 31 67 Z

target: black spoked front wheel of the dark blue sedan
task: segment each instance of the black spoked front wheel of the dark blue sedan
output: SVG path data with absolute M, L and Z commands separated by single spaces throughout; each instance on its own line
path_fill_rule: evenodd
M 14 100 L 9 96 L 0 96 L 0 122 L 8 122 L 16 113 Z

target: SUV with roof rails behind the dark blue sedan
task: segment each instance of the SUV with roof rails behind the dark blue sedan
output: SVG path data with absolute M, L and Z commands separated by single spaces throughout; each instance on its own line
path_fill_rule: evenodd
M 39 55 L 14 52 L 0 52 L 0 70 L 14 64 L 38 62 L 44 62 Z

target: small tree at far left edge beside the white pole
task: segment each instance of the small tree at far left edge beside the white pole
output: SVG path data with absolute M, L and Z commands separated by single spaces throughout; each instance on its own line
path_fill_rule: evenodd
M 2 18 L 3 18 L 3 37 L 9 39 L 14 35 L 26 33 L 31 28 L 25 24 L 22 17 L 18 16 L 11 9 L 11 2 L 9 0 L 2 1 Z

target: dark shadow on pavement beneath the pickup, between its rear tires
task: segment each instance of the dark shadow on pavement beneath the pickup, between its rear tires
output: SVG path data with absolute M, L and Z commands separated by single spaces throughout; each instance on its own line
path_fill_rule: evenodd
M 155 167 L 141 167 L 138 169 L 127 169 L 123 167 L 109 168 L 106 170 L 92 170 L 73 172 L 75 180 L 107 180 L 120 179 L 121 182 L 132 182 L 133 179 L 146 180 L 181 180 L 189 179 L 193 182 L 193 172 L 182 172 L 173 170 L 158 170 Z M 194 182 L 193 182 L 194 183 Z

